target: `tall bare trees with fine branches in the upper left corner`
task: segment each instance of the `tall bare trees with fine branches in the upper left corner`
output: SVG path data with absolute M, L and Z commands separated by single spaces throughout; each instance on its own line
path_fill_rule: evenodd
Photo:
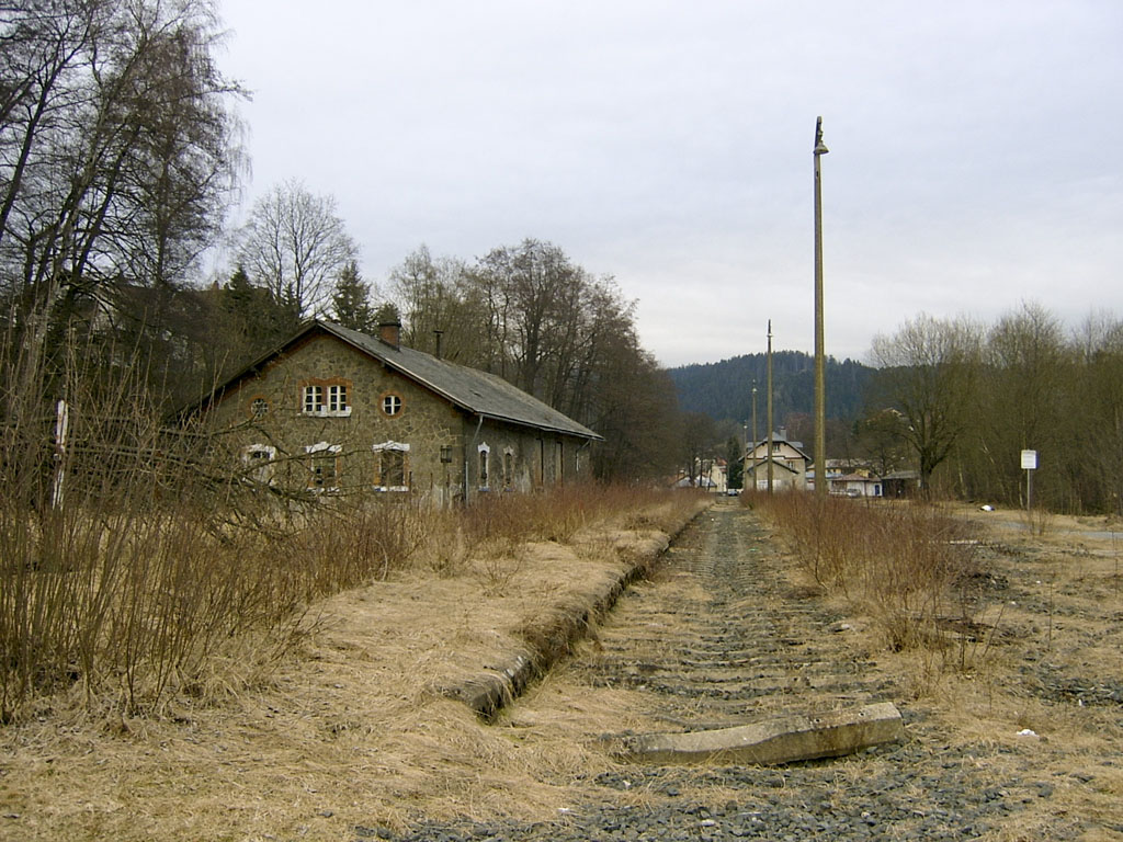
M 0 292 L 28 376 L 121 287 L 185 283 L 221 225 L 239 91 L 217 38 L 210 0 L 0 9 Z

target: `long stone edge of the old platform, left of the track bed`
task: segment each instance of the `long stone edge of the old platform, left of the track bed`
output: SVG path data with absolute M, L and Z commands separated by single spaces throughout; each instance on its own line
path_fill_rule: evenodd
M 533 638 L 535 643 L 528 643 L 521 651 L 489 665 L 483 672 L 444 687 L 442 694 L 459 699 L 484 720 L 494 719 L 504 705 L 518 698 L 528 684 L 568 653 L 569 648 L 585 637 L 590 625 L 615 605 L 624 588 L 647 574 L 670 542 L 707 510 L 709 506 L 699 510 L 672 533 L 665 534 L 650 551 L 638 556 L 620 576 L 594 595 L 592 606 L 584 602 L 581 605 L 556 606 L 548 628 L 523 630 L 523 637 Z

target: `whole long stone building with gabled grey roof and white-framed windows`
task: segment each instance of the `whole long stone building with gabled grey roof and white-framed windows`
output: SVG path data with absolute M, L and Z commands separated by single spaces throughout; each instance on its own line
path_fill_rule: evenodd
M 201 404 L 235 437 L 247 482 L 435 503 L 590 474 L 602 438 L 501 377 L 312 320 Z

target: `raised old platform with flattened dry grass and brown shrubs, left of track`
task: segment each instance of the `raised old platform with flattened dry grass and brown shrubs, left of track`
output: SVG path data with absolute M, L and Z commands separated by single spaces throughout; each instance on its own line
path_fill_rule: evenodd
M 101 598 L 109 621 L 86 633 L 99 641 L 91 677 L 51 675 L 57 657 L 24 668 L 49 680 L 33 683 L 0 729 L 0 805 L 13 816 L 3 831 L 341 839 L 421 813 L 553 812 L 558 778 L 581 775 L 594 749 L 570 730 L 523 751 L 442 690 L 524 648 L 559 605 L 592 604 L 704 505 L 690 494 L 590 486 L 469 510 L 336 507 L 285 537 L 237 538 L 194 530 L 188 518 L 138 515 L 119 541 L 137 552 L 118 550 L 112 593 L 92 550 L 83 567 L 12 571 L 28 584 L 70 578 L 52 593 Z M 117 534 L 109 525 L 118 524 L 83 546 L 104 548 Z M 256 623 L 239 619 L 238 605 L 261 606 Z M 130 675 L 115 671 L 125 656 L 113 633 L 139 616 L 133 640 L 141 625 L 152 635 L 145 657 L 126 661 Z M 175 635 L 161 620 L 170 616 L 188 620 L 186 631 Z

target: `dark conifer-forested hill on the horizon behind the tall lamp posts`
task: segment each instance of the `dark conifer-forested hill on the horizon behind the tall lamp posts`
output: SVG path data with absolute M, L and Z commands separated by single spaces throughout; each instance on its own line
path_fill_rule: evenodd
M 827 358 L 827 415 L 853 421 L 861 414 L 866 384 L 874 369 L 852 359 Z M 743 423 L 752 417 L 752 386 L 757 387 L 757 419 L 765 428 L 767 355 L 749 354 L 720 363 L 672 368 L 668 372 L 685 412 L 701 412 L 716 421 Z M 773 353 L 773 418 L 776 427 L 791 413 L 813 414 L 815 360 L 803 351 Z

